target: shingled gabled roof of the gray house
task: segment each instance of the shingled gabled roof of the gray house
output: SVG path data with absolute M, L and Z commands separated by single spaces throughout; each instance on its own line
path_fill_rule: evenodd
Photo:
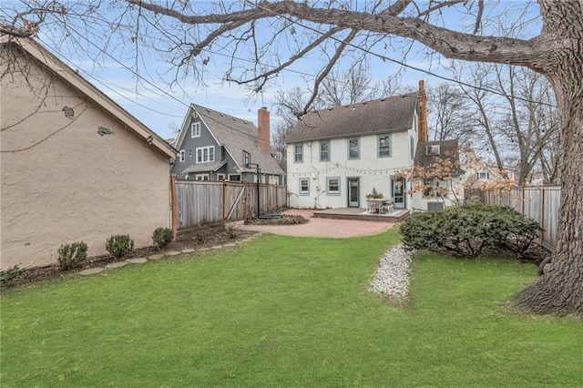
M 189 112 L 184 118 L 184 123 L 182 124 L 179 137 L 176 141 L 178 148 L 184 141 L 184 137 L 189 132 L 189 123 L 194 112 L 199 115 L 206 127 L 209 128 L 210 133 L 217 143 L 229 152 L 230 158 L 239 165 L 241 171 L 245 169 L 242 160 L 244 150 L 251 154 L 251 163 L 259 164 L 262 172 L 283 175 L 283 170 L 277 164 L 275 158 L 273 158 L 269 152 L 262 151 L 258 147 L 258 130 L 251 121 L 232 117 L 225 113 L 212 110 L 208 107 L 202 107 L 197 104 L 190 104 Z M 197 167 L 193 165 L 189 168 Z M 213 169 L 213 167 L 211 166 L 209 168 L 209 165 L 205 167 L 205 171 L 209 171 L 210 169 Z M 246 170 L 254 171 L 255 169 L 248 168 Z M 189 171 L 185 170 L 185 172 Z

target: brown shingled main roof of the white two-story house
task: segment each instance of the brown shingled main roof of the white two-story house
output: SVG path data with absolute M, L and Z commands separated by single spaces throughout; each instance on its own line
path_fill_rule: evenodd
M 396 132 L 413 127 L 417 93 L 385 97 L 307 113 L 287 142 Z

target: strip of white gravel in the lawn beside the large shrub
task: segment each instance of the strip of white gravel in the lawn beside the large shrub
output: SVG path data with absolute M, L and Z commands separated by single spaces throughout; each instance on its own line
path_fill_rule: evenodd
M 370 290 L 384 296 L 406 299 L 413 253 L 404 250 L 403 244 L 386 250 L 376 267 Z

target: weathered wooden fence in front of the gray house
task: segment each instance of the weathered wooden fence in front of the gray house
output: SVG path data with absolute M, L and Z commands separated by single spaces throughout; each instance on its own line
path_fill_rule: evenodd
M 172 229 L 181 231 L 257 214 L 257 183 L 172 179 Z M 260 212 L 287 206 L 285 186 L 259 185 Z

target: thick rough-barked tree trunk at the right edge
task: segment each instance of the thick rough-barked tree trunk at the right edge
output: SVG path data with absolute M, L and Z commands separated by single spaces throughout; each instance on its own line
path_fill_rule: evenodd
M 565 5 L 558 8 L 568 11 L 571 5 L 577 7 L 577 3 Z M 549 58 L 553 65 L 542 71 L 555 89 L 561 125 L 563 181 L 558 241 L 551 271 L 518 294 L 516 302 L 529 311 L 583 316 L 583 21 L 573 16 L 582 14 L 581 7 L 579 3 L 578 12 L 571 15 L 543 7 L 547 28 L 555 29 L 564 45 Z

